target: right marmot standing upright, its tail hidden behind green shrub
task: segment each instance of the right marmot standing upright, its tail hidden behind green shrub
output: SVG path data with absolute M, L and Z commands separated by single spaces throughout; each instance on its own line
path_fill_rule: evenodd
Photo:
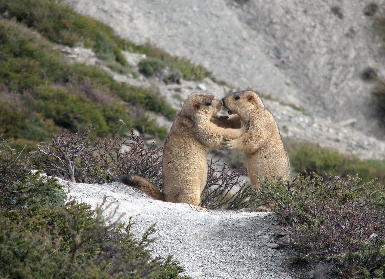
M 259 178 L 291 180 L 290 161 L 273 115 L 252 91 L 239 91 L 222 99 L 223 107 L 231 116 L 228 121 L 249 122 L 247 133 L 237 139 L 224 139 L 227 149 L 238 149 L 246 155 L 246 166 L 251 184 L 259 186 Z M 240 125 L 240 124 L 238 124 Z

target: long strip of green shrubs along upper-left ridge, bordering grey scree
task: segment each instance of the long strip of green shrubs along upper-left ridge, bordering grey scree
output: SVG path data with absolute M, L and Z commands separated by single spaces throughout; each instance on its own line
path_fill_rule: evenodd
M 117 36 L 108 25 L 85 15 L 76 13 L 72 8 L 55 0 L 2 0 L 0 13 L 16 18 L 18 22 L 37 30 L 54 43 L 74 46 L 84 43 L 92 48 L 99 58 L 111 58 L 123 66 L 127 61 L 122 50 L 144 53 L 166 63 L 172 70 L 182 73 L 186 80 L 199 80 L 211 77 L 203 66 L 195 65 L 184 58 L 177 58 L 164 50 L 151 45 L 136 45 Z

